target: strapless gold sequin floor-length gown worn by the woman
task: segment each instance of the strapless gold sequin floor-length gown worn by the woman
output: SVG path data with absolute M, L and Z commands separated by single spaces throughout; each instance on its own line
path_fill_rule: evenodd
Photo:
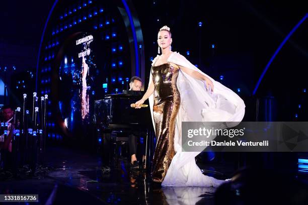
M 151 67 L 154 83 L 153 119 L 157 145 L 153 156 L 152 179 L 162 182 L 175 155 L 175 121 L 180 108 L 180 93 L 177 88 L 179 68 L 170 63 Z

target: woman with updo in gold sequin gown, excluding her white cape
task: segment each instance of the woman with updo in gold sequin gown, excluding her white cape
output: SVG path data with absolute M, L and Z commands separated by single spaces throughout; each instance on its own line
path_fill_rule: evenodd
M 152 163 L 152 180 L 155 182 L 162 182 L 164 180 L 172 158 L 175 155 L 175 121 L 181 102 L 181 96 L 177 88 L 180 66 L 168 62 L 168 58 L 173 53 L 171 51 L 171 43 L 170 29 L 165 26 L 158 34 L 158 44 L 162 49 L 162 55 L 153 61 L 153 66 L 151 67 L 152 82 L 150 82 L 142 99 L 136 102 L 136 108 L 139 108 L 139 105 L 143 104 L 150 94 L 153 94 L 153 120 L 157 138 Z M 191 72 L 185 67 L 181 67 L 181 69 L 193 77 L 205 80 L 208 85 L 212 85 L 210 79 L 198 72 Z

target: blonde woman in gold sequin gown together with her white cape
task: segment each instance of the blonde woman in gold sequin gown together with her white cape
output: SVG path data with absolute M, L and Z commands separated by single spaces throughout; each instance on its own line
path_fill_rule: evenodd
M 196 165 L 199 152 L 182 152 L 181 122 L 236 122 L 245 114 L 244 101 L 203 73 L 184 56 L 171 51 L 170 28 L 158 33 L 159 53 L 152 61 L 149 85 L 136 108 L 148 98 L 157 145 L 152 180 L 162 186 L 218 186 L 223 180 L 203 175 Z

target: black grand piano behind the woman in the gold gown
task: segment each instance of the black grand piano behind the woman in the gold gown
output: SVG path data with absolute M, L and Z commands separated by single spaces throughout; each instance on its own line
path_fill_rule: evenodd
M 104 99 L 95 100 L 95 115 L 94 122 L 103 133 L 104 156 L 108 155 L 108 161 L 111 158 L 111 144 L 116 144 L 119 140 L 124 140 L 123 137 L 116 136 L 114 133 L 127 133 L 137 131 L 145 133 L 145 155 L 146 167 L 149 167 L 149 162 L 152 158 L 154 149 L 153 145 L 153 124 L 149 106 L 146 108 L 134 109 L 130 105 L 141 99 L 143 91 L 133 91 L 120 94 L 108 94 Z M 144 102 L 148 105 L 148 100 Z M 126 138 L 128 134 L 126 134 Z M 106 158 L 105 158 L 106 160 Z M 149 169 L 148 169 L 149 170 Z

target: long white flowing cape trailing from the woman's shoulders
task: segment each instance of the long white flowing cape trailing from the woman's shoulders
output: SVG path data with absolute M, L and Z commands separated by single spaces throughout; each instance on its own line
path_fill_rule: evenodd
M 159 55 L 153 59 L 152 65 L 158 57 Z M 180 92 L 181 105 L 176 117 L 174 136 L 176 154 L 172 159 L 162 186 L 216 187 L 224 181 L 202 174 L 195 162 L 195 156 L 200 152 L 182 152 L 182 122 L 227 122 L 225 128 L 234 127 L 244 118 L 245 103 L 238 94 L 203 73 L 180 53 L 173 52 L 167 62 L 172 62 L 205 75 L 213 82 L 214 91 L 207 90 L 205 81 L 191 77 L 182 70 L 179 71 L 177 87 Z M 149 76 L 150 82 L 152 82 L 151 73 Z M 153 120 L 153 94 L 149 96 L 148 100 L 155 130 Z

